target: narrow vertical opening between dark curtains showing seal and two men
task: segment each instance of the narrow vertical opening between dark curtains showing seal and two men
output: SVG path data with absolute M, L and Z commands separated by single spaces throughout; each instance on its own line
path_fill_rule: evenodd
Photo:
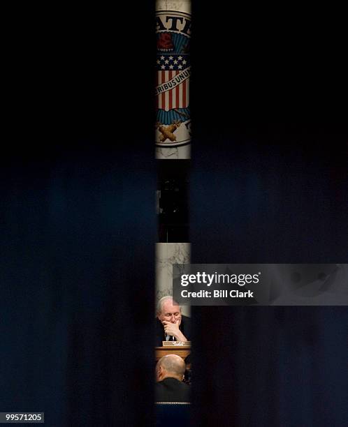
M 191 313 L 173 301 L 173 265 L 190 262 L 189 173 L 191 118 L 189 45 L 191 0 L 156 1 L 155 144 L 158 231 L 156 250 L 157 425 L 189 425 Z M 159 403 L 161 402 L 161 403 Z

